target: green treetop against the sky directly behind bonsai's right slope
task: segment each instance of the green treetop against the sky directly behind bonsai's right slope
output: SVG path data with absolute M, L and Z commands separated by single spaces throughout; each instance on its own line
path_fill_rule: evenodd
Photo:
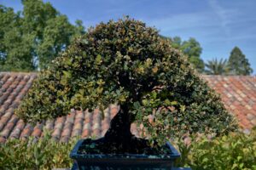
M 203 72 L 205 68 L 204 61 L 200 58 L 201 55 L 201 45 L 195 40 L 195 38 L 190 37 L 188 41 L 182 41 L 180 37 L 171 38 L 172 47 L 180 49 L 183 54 L 189 57 L 189 62 L 194 65 L 195 69 L 199 72 Z

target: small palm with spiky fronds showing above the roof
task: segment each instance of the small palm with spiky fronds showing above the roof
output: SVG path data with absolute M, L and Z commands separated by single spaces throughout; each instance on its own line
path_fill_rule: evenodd
M 229 67 L 227 59 L 212 59 L 208 60 L 206 64 L 206 71 L 208 75 L 227 75 L 229 74 Z

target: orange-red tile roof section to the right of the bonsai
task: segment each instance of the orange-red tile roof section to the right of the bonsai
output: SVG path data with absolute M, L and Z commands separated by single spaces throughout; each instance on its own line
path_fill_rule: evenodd
M 225 107 L 237 117 L 240 126 L 256 126 L 256 77 L 202 76 L 220 94 Z

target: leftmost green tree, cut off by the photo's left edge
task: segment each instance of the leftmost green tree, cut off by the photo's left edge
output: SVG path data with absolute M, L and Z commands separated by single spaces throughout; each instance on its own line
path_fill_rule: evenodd
M 0 5 L 0 71 L 33 70 L 32 35 L 22 34 L 20 13 Z

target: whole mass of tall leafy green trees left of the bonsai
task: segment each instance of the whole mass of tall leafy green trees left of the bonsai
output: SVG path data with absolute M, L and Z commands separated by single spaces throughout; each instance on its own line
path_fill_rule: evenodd
M 73 26 L 67 16 L 42 0 L 23 0 L 23 11 L 0 6 L 0 71 L 44 69 L 73 37 L 84 33 L 82 22 Z

